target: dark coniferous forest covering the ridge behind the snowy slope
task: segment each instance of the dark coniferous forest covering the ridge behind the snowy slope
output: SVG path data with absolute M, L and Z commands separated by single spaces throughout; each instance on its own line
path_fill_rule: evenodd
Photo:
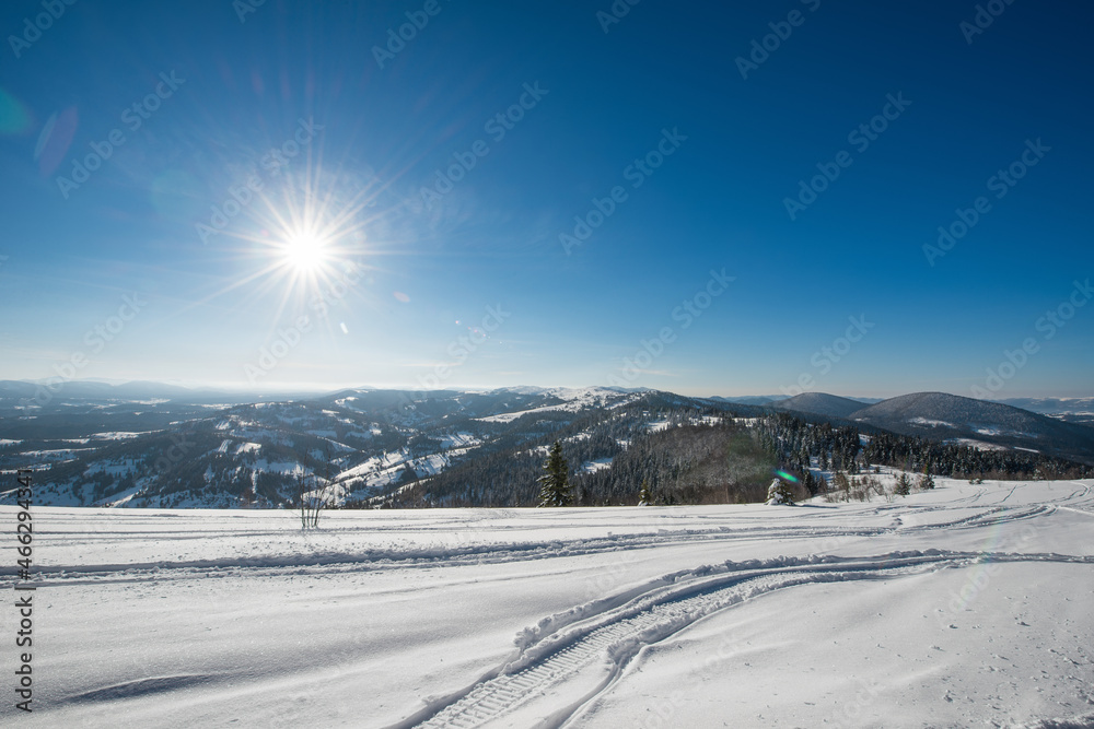
M 680 409 L 662 413 L 661 431 L 594 426 L 585 436 L 561 436 L 571 465 L 573 505 L 633 505 L 642 483 L 652 504 L 757 503 L 767 498 L 776 471 L 798 479 L 795 497 L 824 494 L 833 480 L 865 474 L 878 466 L 913 474 L 959 479 L 1090 478 L 1089 466 L 1017 450 L 981 450 L 967 445 L 884 432 L 860 433 L 853 426 L 807 422 L 790 414 L 713 420 L 709 412 Z M 710 422 L 701 422 L 703 419 Z M 695 421 L 700 421 L 696 423 Z M 573 425 L 573 424 L 571 424 Z M 560 427 L 560 433 L 571 427 Z M 552 438 L 556 434 L 552 434 Z M 385 505 L 534 506 L 544 473 L 545 446 L 498 451 L 418 480 Z M 610 468 L 581 471 L 580 465 L 612 459 Z M 827 475 L 825 475 L 827 474 Z

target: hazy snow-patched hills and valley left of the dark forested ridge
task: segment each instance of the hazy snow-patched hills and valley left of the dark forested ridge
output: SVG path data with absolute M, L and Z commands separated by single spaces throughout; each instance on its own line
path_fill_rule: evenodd
M 36 469 L 36 503 L 283 506 L 301 477 L 330 484 L 339 499 L 362 499 L 467 459 L 532 452 L 535 461 L 557 437 L 573 439 L 581 463 L 610 460 L 627 434 L 667 422 L 686 402 L 590 387 L 347 389 L 209 404 L 104 400 L 100 385 L 82 389 L 95 393 L 83 400 L 70 391 L 44 404 L 0 398 L 0 469 Z

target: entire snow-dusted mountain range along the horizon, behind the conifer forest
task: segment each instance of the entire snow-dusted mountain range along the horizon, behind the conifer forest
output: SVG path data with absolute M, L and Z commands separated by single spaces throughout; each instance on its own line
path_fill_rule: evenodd
M 1094 463 L 1090 425 L 942 392 L 873 403 L 808 392 L 742 403 L 647 389 L 527 386 L 350 388 L 255 400 L 155 383 L 73 381 L 43 397 L 38 384 L 0 381 L 0 469 L 34 469 L 36 503 L 54 505 L 284 506 L 307 483 L 327 484 L 340 502 L 392 501 L 432 483 L 454 494 L 487 490 L 466 503 L 525 503 L 556 439 L 580 481 L 625 462 L 640 468 L 638 455 L 619 457 L 636 438 L 667 430 L 679 434 L 642 447 L 679 454 L 702 442 L 709 461 L 737 446 L 732 433 L 710 440 L 703 426 L 746 427 L 773 413 L 864 434 Z M 511 485 L 523 490 L 521 498 L 505 499 Z

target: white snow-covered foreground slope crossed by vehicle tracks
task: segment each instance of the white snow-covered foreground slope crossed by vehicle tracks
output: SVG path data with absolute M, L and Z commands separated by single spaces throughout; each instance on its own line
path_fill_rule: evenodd
M 315 533 L 289 512 L 37 508 L 19 719 L 1094 726 L 1094 481 L 939 484 L 798 507 L 338 512 Z

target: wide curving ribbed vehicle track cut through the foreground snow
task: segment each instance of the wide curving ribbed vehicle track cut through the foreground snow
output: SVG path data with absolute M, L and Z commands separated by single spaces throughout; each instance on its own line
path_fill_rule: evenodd
M 674 573 L 544 619 L 517 636 L 517 652 L 510 661 L 470 686 L 429 702 L 391 729 L 470 729 L 496 724 L 557 729 L 607 691 L 643 647 L 749 598 L 799 585 L 892 579 L 988 560 L 1094 564 L 1094 556 L 929 550 L 873 557 L 726 562 Z M 565 708 L 558 709 L 560 704 Z

